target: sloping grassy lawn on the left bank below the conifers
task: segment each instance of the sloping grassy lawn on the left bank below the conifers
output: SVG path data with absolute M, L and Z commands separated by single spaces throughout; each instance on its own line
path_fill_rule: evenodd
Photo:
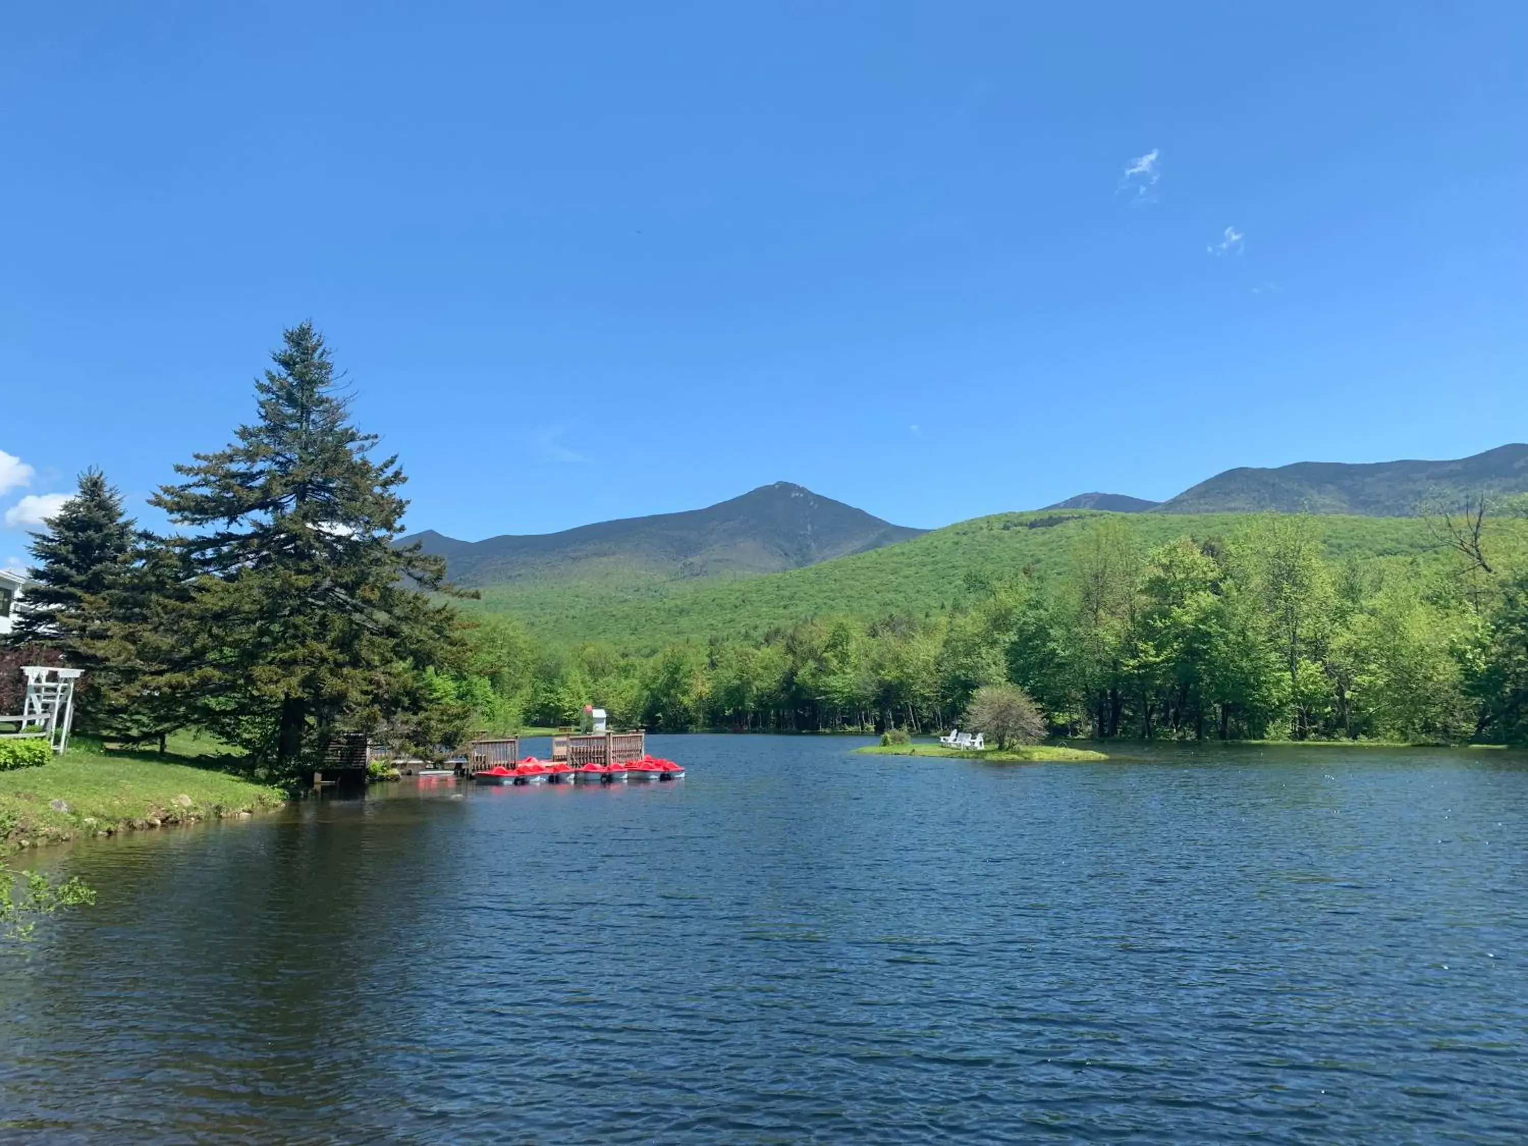
M 76 740 L 38 769 L 0 772 L 0 853 L 101 831 L 263 811 L 286 796 L 228 772 L 237 759 L 208 738 L 170 752 L 125 752 Z

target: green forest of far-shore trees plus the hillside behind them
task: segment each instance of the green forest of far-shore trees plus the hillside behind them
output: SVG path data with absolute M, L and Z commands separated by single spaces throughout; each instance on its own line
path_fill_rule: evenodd
M 495 726 L 599 703 L 666 730 L 927 730 L 1012 681 L 1073 736 L 1517 740 L 1528 523 L 1470 527 L 1004 515 L 744 582 L 521 588 L 523 619 L 489 590 L 475 671 L 437 688 Z

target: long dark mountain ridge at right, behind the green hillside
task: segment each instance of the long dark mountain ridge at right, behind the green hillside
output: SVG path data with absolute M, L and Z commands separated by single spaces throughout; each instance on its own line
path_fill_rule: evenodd
M 1296 461 L 1216 474 L 1157 506 L 1158 513 L 1358 513 L 1409 516 L 1465 495 L 1528 494 L 1528 445 L 1513 443 L 1452 461 Z

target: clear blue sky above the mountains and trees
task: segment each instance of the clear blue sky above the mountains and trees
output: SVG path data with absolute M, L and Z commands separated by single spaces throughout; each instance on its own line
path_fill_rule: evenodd
M 3 15 L 0 559 L 303 318 L 465 538 L 1528 439 L 1528 5 Z

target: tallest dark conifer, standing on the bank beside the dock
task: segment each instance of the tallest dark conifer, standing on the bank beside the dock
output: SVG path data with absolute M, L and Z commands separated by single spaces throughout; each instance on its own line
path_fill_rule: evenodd
M 442 735 L 425 669 L 463 648 L 454 610 L 419 591 L 445 587 L 443 562 L 394 544 L 403 472 L 350 425 L 322 336 L 287 330 L 272 359 L 258 420 L 151 500 L 188 527 L 173 539 L 188 591 L 159 610 L 174 649 L 153 686 L 292 772 L 336 729 L 413 720 Z

